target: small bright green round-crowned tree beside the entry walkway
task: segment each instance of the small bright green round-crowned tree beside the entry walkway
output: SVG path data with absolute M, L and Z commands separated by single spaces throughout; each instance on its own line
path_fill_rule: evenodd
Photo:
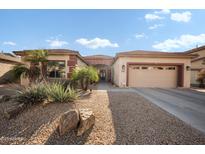
M 90 84 L 99 80 L 97 69 L 94 67 L 75 68 L 71 75 L 71 80 L 77 84 L 80 83 L 81 89 L 87 91 Z

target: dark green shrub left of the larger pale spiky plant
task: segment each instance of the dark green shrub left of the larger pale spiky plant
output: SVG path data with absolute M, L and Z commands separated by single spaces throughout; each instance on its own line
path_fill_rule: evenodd
M 17 91 L 17 101 L 26 105 L 42 103 L 47 99 L 45 85 L 36 84 Z

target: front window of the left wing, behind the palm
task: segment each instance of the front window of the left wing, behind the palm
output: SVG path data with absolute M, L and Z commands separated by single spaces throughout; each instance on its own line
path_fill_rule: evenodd
M 65 61 L 49 61 L 47 73 L 49 78 L 65 78 Z

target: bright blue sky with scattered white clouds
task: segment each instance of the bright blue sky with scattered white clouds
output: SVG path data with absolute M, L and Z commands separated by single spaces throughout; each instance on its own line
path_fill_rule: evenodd
M 205 10 L 0 10 L 0 50 L 180 52 L 205 45 L 204 17 Z

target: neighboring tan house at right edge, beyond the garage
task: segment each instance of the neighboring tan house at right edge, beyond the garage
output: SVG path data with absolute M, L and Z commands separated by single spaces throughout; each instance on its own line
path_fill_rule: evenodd
M 205 46 L 188 50 L 186 53 L 197 54 L 191 60 L 191 85 L 199 86 L 199 82 L 197 82 L 198 73 L 201 69 L 205 69 Z

